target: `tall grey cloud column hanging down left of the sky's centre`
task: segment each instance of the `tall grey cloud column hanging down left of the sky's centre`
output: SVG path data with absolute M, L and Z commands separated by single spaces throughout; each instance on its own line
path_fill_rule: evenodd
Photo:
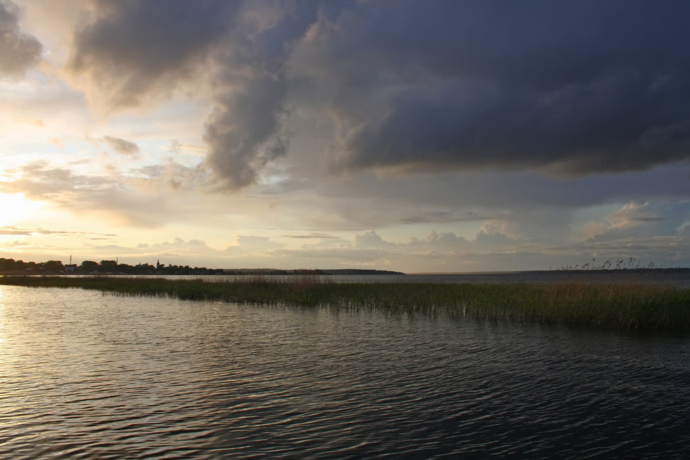
M 255 183 L 268 162 L 286 154 L 288 141 L 281 132 L 289 113 L 286 64 L 315 19 L 315 8 L 306 1 L 248 2 L 243 19 L 229 48 L 216 56 L 222 70 L 204 132 L 205 165 L 224 190 Z

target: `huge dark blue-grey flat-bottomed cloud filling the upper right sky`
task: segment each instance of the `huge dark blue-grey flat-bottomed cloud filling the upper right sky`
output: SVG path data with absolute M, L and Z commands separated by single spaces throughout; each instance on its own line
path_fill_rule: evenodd
M 690 151 L 681 2 L 357 3 L 295 72 L 330 88 L 340 168 L 640 170 Z

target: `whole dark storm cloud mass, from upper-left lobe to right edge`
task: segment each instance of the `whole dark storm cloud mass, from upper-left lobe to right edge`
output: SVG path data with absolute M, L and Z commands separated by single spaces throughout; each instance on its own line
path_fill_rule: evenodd
M 690 6 L 643 1 L 94 3 L 68 68 L 112 108 L 198 81 L 220 190 L 330 121 L 329 170 L 646 170 L 690 154 Z

